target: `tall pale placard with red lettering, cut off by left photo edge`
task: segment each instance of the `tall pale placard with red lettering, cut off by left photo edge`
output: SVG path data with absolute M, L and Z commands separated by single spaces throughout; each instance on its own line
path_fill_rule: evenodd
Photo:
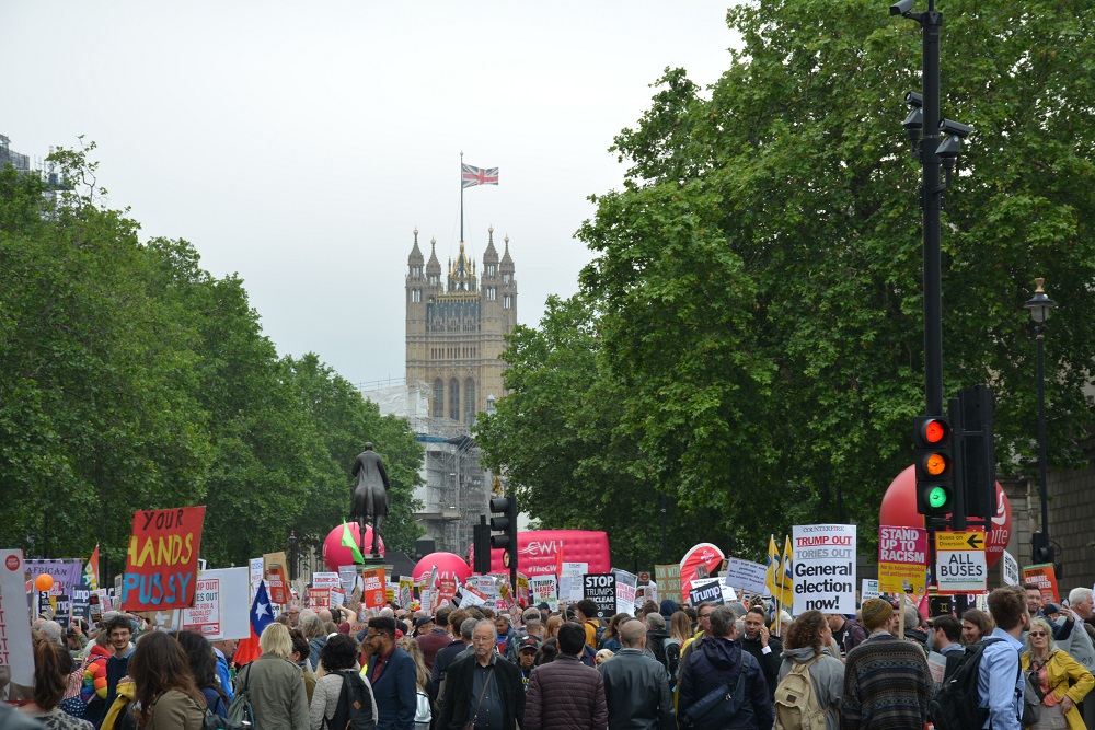
M 0 667 L 11 672 L 10 697 L 22 694 L 22 699 L 32 699 L 34 653 L 26 613 L 25 570 L 23 551 L 0 551 Z

